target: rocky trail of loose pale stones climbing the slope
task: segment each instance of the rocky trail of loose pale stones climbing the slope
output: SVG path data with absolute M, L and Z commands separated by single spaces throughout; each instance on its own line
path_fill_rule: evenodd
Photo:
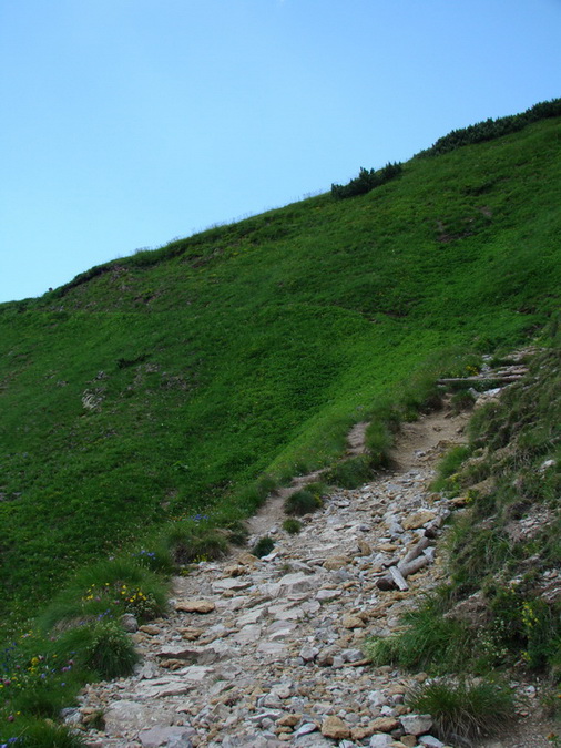
M 273 537 L 273 552 L 238 552 L 175 578 L 170 616 L 132 634 L 135 674 L 88 686 L 67 721 L 92 748 L 442 747 L 431 719 L 404 704 L 427 676 L 373 667 L 365 642 L 396 631 L 443 578 L 438 539 L 453 505 L 429 483 L 466 421 L 445 410 L 405 424 L 395 469 L 336 490 L 299 534 L 282 529 L 283 502 L 317 473 L 272 496 L 251 532 Z M 359 424 L 349 452 L 363 445 Z M 550 744 L 522 730 L 481 745 Z

